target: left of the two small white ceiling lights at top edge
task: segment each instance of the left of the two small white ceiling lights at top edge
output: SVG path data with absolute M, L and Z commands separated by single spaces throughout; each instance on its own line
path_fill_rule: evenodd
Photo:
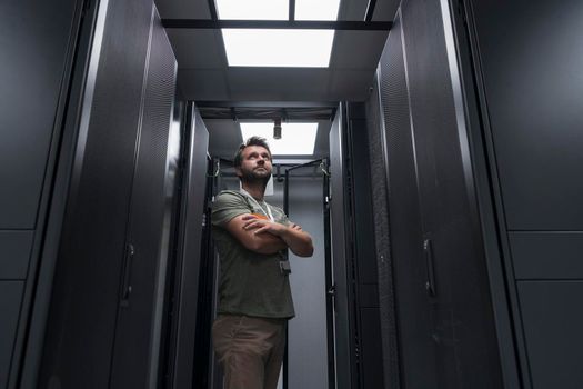
M 288 0 L 217 0 L 219 19 L 288 20 Z

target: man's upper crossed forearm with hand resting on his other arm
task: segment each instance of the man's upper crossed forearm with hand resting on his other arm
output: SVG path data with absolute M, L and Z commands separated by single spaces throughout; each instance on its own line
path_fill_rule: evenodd
M 298 225 L 284 226 L 252 215 L 241 216 L 243 230 L 255 237 L 272 236 L 285 243 L 298 257 L 311 257 L 314 252 L 312 237 Z

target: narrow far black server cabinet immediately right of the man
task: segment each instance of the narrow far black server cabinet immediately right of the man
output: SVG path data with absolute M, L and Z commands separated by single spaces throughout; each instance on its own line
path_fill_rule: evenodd
M 385 380 L 368 144 L 364 104 L 342 102 L 330 130 L 336 388 L 381 388 Z

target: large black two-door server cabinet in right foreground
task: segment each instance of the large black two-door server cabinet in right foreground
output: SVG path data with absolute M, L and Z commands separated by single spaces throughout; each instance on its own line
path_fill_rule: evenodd
M 449 12 L 448 1 L 403 2 L 379 71 L 400 381 L 502 388 Z

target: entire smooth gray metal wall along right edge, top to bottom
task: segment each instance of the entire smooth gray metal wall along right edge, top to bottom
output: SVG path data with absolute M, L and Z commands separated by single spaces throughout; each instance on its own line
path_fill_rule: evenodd
M 547 387 L 545 379 L 552 373 L 533 363 L 544 357 L 540 346 L 545 340 L 532 340 L 532 329 L 543 325 L 542 311 L 539 316 L 526 311 L 523 288 L 531 288 L 531 283 L 516 283 L 515 279 L 552 279 L 556 290 L 562 290 L 572 283 L 561 285 L 561 280 L 582 277 L 574 251 L 581 245 L 577 231 L 583 229 L 583 184 L 579 179 L 583 114 L 577 103 L 583 57 L 574 48 L 579 47 L 575 37 L 582 31 L 579 16 L 583 8 L 577 1 L 554 7 L 522 0 L 507 4 L 473 0 L 469 6 L 522 379 L 526 388 Z M 495 26 L 490 22 L 493 19 Z M 544 28 L 545 20 L 560 28 Z M 533 296 L 556 297 L 543 287 L 547 282 L 532 285 L 541 288 Z M 551 306 L 545 302 L 544 326 L 549 330 L 562 328 L 564 315 L 575 315 L 556 313 L 555 309 L 562 308 Z M 533 341 L 539 346 L 532 347 Z M 565 379 L 574 375 L 569 382 L 577 382 L 576 371 L 562 372 Z

